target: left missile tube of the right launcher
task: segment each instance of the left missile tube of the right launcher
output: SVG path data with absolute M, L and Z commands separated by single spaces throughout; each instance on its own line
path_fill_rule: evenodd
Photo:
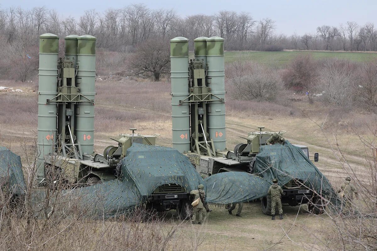
M 172 83 L 172 141 L 179 152 L 190 151 L 190 106 L 179 100 L 189 96 L 189 40 L 176 37 L 170 40 Z

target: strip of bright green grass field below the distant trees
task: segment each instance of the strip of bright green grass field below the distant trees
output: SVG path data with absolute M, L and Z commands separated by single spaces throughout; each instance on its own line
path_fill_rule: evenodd
M 354 62 L 365 62 L 377 59 L 377 53 L 364 52 L 307 52 L 307 51 L 284 51 L 284 52 L 225 52 L 225 62 L 236 60 L 251 60 L 271 66 L 284 67 L 291 59 L 296 56 L 310 54 L 314 59 L 339 58 L 349 59 Z

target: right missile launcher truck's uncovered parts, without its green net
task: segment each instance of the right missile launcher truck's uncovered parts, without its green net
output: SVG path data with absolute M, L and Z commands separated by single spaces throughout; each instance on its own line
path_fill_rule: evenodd
M 196 38 L 193 59 L 189 59 L 188 44 L 189 40 L 184 37 L 170 40 L 173 148 L 187 156 L 205 177 L 222 172 L 255 174 L 254 159 L 274 132 L 262 131 L 261 126 L 259 131 L 241 137 L 247 143 L 237 144 L 234 151 L 226 149 L 224 39 Z M 309 160 L 308 148 L 300 148 Z M 282 184 L 283 201 L 297 205 L 301 193 L 305 192 L 308 198 L 312 196 L 312 192 L 302 189 L 299 183 L 293 177 Z

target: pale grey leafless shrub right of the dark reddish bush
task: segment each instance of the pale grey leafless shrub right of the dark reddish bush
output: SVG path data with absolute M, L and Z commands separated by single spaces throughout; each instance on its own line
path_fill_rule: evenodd
M 328 59 L 321 65 L 318 88 L 327 105 L 347 107 L 355 105 L 354 82 L 357 66 L 350 61 Z

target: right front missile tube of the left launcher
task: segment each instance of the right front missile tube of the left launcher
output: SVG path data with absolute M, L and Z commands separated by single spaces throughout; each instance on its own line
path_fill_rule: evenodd
M 76 137 L 80 141 L 83 154 L 94 153 L 94 101 L 95 96 L 95 43 L 97 38 L 83 35 L 77 38 L 77 87 L 85 96 L 80 98 L 76 109 Z

